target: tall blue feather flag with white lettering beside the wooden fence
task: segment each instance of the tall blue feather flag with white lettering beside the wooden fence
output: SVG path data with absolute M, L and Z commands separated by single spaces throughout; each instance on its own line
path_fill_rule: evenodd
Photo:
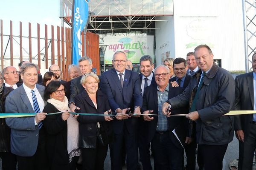
M 88 0 L 89 2 L 89 0 Z M 81 58 L 81 32 L 88 19 L 88 2 L 86 0 L 74 0 L 73 17 L 73 57 L 72 64 L 78 64 Z

